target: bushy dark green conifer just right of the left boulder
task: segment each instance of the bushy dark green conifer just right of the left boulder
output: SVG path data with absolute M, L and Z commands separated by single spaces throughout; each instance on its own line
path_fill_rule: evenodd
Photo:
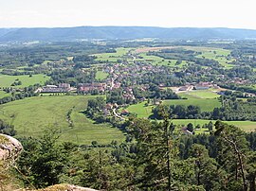
M 27 176 L 25 182 L 37 188 L 60 183 L 68 157 L 64 148 L 57 144 L 59 137 L 58 130 L 49 129 L 40 139 L 21 139 L 25 151 L 18 161 L 18 168 Z

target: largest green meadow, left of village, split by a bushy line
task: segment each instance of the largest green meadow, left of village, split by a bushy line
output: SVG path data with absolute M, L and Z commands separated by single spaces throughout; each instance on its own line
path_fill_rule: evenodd
M 123 140 L 122 132 L 106 124 L 94 124 L 86 118 L 87 100 L 92 96 L 37 96 L 0 106 L 0 118 L 14 125 L 17 136 L 39 136 L 48 127 L 62 130 L 61 140 L 78 144 L 101 144 Z M 72 110 L 69 127 L 66 114 Z

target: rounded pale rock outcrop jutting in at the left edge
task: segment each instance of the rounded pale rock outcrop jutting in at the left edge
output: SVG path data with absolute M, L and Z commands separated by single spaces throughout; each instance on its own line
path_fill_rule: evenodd
M 12 165 L 23 147 L 21 143 L 6 134 L 0 134 L 0 162 L 4 167 Z

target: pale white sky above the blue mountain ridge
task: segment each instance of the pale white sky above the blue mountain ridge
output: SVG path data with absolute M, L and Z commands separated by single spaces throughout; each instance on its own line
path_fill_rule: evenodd
M 0 0 L 0 27 L 256 29 L 255 0 Z

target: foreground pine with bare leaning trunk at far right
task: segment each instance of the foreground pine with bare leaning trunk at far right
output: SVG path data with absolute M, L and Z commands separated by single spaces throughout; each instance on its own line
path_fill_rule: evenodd
M 239 128 L 216 121 L 214 132 L 218 137 L 218 163 L 231 175 L 228 187 L 232 189 L 247 190 L 247 140 L 245 132 Z M 239 183 L 241 182 L 241 183 Z

